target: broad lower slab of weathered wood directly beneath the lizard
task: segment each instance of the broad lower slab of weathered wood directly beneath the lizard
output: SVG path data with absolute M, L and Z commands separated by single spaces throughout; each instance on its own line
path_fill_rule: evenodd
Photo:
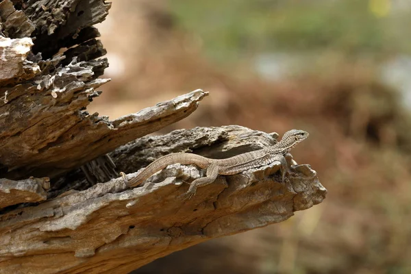
M 3 214 L 0 269 L 128 273 L 199 242 L 284 221 L 323 201 L 327 190 L 310 166 L 292 166 L 286 184 L 273 177 L 278 167 L 274 162 L 219 176 L 182 201 L 177 196 L 188 188 L 182 178 L 200 173 L 195 166 L 175 164 L 152 178 L 156 184 L 127 189 L 120 177 Z

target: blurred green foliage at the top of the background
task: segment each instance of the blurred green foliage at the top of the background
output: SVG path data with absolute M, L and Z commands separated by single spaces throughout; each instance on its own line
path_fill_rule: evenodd
M 218 59 L 260 52 L 371 54 L 410 51 L 410 12 L 390 0 L 173 0 L 177 22 Z M 410 5 L 411 10 L 411 5 Z

